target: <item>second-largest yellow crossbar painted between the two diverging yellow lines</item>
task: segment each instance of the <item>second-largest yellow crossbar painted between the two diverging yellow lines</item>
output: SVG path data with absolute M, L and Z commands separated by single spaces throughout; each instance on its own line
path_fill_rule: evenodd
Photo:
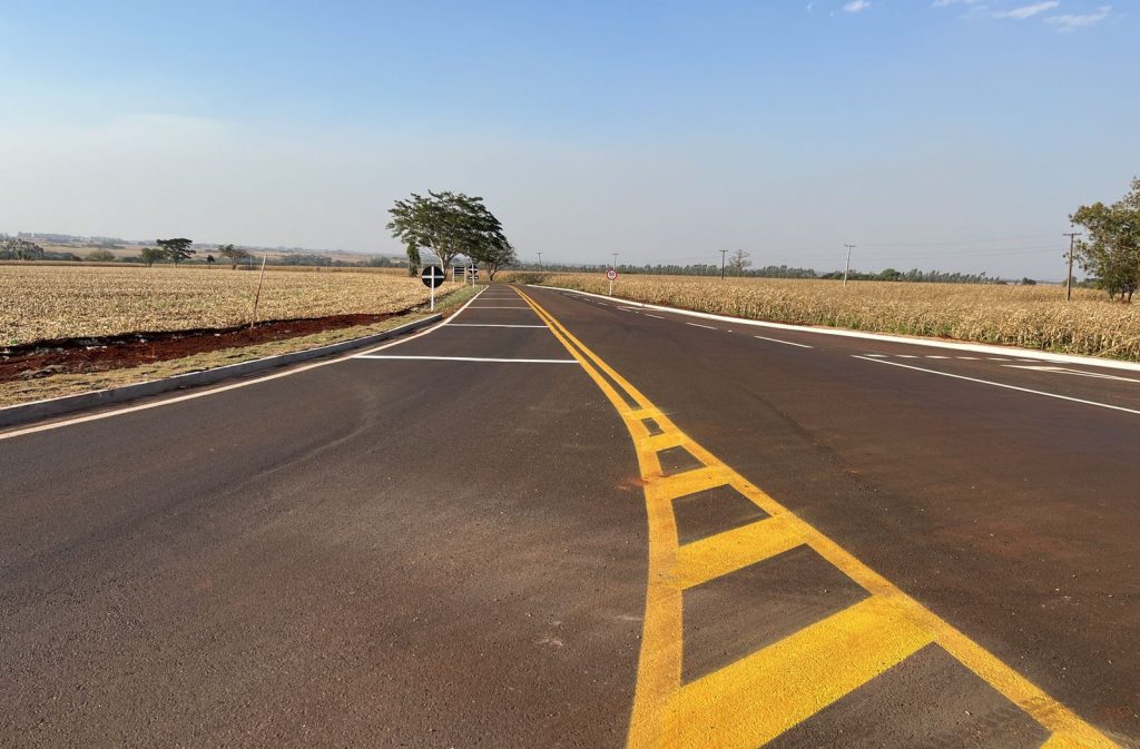
M 677 549 L 674 584 L 690 588 L 804 543 L 783 518 L 768 518 L 685 544 Z

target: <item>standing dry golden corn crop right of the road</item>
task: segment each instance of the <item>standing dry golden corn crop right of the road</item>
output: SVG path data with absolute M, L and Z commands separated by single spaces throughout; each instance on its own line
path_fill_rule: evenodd
M 526 276 L 535 274 L 513 277 Z M 545 283 L 606 293 L 602 274 L 546 274 Z M 1140 306 L 1110 302 L 1092 290 L 1074 290 L 1066 304 L 1064 288 L 1044 285 L 856 282 L 844 288 L 836 280 L 626 275 L 613 292 L 638 302 L 774 323 L 1140 360 Z

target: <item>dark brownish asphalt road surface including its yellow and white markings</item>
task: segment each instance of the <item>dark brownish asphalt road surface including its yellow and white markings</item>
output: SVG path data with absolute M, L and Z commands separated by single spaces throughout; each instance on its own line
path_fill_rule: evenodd
M 526 294 L 0 433 L 0 746 L 1140 746 L 1140 375 Z

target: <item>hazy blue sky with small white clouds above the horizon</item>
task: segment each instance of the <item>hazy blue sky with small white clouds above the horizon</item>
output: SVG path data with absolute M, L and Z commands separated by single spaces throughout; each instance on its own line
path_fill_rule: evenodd
M 398 252 L 450 188 L 523 257 L 1059 277 L 1140 173 L 1130 6 L 6 0 L 0 230 Z

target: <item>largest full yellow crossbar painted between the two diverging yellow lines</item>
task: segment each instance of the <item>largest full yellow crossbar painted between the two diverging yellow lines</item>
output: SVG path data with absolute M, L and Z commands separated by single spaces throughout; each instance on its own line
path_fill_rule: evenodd
M 929 642 L 891 601 L 866 599 L 682 687 L 670 733 L 678 748 L 754 749 Z

